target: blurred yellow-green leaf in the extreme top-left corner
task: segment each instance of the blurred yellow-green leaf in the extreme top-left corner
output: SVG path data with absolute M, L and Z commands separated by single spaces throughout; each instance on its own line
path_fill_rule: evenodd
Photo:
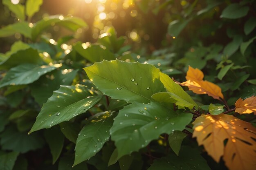
M 11 0 L 2 0 L 2 3 L 17 16 L 20 20 L 25 20 L 25 7 L 22 4 L 13 4 Z

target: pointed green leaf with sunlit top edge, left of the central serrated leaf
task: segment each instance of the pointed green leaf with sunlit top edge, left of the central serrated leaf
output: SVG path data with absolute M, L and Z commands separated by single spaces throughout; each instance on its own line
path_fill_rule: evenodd
M 101 97 L 83 85 L 61 86 L 43 105 L 29 133 L 69 121 L 92 108 Z

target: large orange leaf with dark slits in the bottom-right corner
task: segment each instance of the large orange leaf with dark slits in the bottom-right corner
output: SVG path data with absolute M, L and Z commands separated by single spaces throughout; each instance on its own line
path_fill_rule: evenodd
M 230 170 L 256 169 L 256 128 L 250 123 L 231 115 L 202 114 L 193 124 L 193 137 L 215 161 L 223 156 Z

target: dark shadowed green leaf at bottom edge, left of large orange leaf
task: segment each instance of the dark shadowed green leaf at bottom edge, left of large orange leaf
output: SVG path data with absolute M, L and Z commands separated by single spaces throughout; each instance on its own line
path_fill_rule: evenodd
M 183 146 L 179 156 L 169 154 L 167 157 L 155 159 L 148 170 L 211 170 L 211 168 L 198 150 Z

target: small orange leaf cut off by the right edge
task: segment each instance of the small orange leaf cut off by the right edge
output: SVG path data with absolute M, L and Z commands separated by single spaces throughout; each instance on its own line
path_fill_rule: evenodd
M 236 101 L 236 112 L 240 114 L 254 113 L 256 115 L 256 96 L 249 97 L 245 100 L 239 98 Z

